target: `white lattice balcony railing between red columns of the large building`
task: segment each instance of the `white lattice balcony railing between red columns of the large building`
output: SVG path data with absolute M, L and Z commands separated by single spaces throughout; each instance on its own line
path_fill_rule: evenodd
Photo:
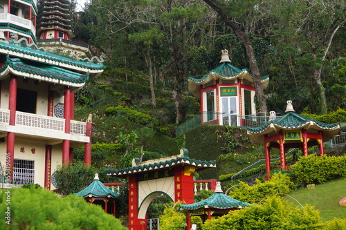
M 0 109 L 0 123 L 9 124 L 9 122 L 10 111 Z M 17 111 L 15 124 L 16 126 L 45 128 L 51 131 L 64 133 L 65 119 Z M 86 136 L 86 123 L 71 120 L 70 133 Z

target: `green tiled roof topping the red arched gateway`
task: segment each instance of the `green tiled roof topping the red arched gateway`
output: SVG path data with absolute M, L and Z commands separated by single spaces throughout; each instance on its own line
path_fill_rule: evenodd
M 118 176 L 126 176 L 130 173 L 141 173 L 147 171 L 153 171 L 157 169 L 165 169 L 170 168 L 175 165 L 184 164 L 188 166 L 196 166 L 197 171 L 199 169 L 212 168 L 216 166 L 215 160 L 206 161 L 206 160 L 194 160 L 190 157 L 182 155 L 181 157 L 176 157 L 171 160 L 166 160 L 163 162 L 155 162 L 152 164 L 143 164 L 138 166 L 133 166 L 125 169 L 107 169 L 107 175 L 118 175 Z

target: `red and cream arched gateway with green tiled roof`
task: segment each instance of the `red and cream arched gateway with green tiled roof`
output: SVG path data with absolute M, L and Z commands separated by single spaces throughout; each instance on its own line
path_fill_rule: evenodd
M 194 160 L 187 149 L 179 155 L 156 160 L 132 161 L 132 167 L 109 169 L 107 175 L 129 182 L 129 230 L 147 226 L 147 208 L 156 196 L 165 194 L 173 202 L 194 202 L 194 171 L 214 168 L 215 161 Z

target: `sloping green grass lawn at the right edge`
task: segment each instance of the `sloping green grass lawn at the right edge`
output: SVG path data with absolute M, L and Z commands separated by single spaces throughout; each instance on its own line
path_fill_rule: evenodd
M 316 185 L 315 189 L 302 188 L 289 193 L 295 200 L 305 206 L 311 204 L 320 211 L 322 222 L 334 218 L 346 219 L 346 207 L 341 207 L 339 201 L 346 197 L 346 178 L 333 180 Z M 299 205 L 297 201 L 284 195 L 284 199 Z

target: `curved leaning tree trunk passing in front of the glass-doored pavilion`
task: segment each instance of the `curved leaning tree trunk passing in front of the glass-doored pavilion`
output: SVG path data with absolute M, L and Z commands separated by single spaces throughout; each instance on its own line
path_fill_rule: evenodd
M 261 111 L 263 113 L 266 113 L 266 97 L 264 97 L 263 88 L 261 84 L 261 76 L 260 76 L 260 70 L 257 66 L 257 61 L 255 58 L 255 52 L 253 51 L 253 45 L 251 44 L 250 39 L 248 38 L 248 35 L 246 32 L 240 30 L 240 28 L 237 26 L 236 23 L 233 21 L 230 21 L 225 15 L 224 11 L 221 10 L 218 6 L 215 5 L 210 0 L 203 0 L 205 3 L 207 3 L 212 9 L 214 9 L 217 14 L 221 17 L 222 21 L 226 23 L 227 26 L 230 26 L 230 28 L 233 29 L 235 32 L 235 35 L 243 41 L 245 50 L 246 50 L 246 59 L 248 60 L 248 64 L 251 70 L 251 75 L 253 76 L 253 84 L 255 86 L 255 97 L 256 97 L 256 106 L 257 110 Z

